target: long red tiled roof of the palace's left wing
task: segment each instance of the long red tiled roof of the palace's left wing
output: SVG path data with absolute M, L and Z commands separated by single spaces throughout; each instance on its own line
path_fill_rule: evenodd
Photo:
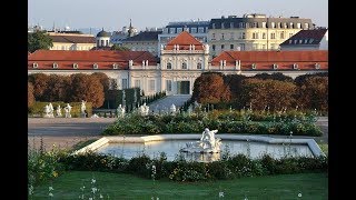
M 73 63 L 78 69 L 90 70 L 93 64 L 98 69 L 112 69 L 112 64 L 118 64 L 118 69 L 128 69 L 129 60 L 134 66 L 141 66 L 142 60 L 148 60 L 149 66 L 157 66 L 156 58 L 148 51 L 66 51 L 66 50 L 37 50 L 28 56 L 28 69 L 33 69 L 33 63 L 38 63 L 38 69 L 53 69 L 53 63 L 59 70 L 73 69 Z

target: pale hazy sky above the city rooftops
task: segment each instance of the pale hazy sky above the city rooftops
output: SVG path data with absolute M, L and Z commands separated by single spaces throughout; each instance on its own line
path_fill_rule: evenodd
M 170 21 L 210 20 L 221 16 L 265 13 L 271 17 L 309 18 L 328 27 L 327 0 L 28 0 L 28 22 L 51 29 L 105 28 L 121 30 L 129 24 L 142 30 Z

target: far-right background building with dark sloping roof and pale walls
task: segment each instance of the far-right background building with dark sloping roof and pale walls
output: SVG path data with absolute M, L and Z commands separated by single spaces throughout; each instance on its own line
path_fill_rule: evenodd
M 280 43 L 280 50 L 328 50 L 328 30 L 326 28 L 300 30 L 295 36 Z

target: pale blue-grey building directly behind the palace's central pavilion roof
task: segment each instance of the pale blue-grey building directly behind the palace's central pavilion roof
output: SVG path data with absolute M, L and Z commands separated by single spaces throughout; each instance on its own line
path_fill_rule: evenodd
M 162 33 L 158 34 L 158 47 L 159 50 L 161 46 L 165 46 L 170 40 L 176 38 L 180 32 L 187 31 L 200 42 L 206 43 L 208 34 L 209 21 L 177 21 L 169 22 L 162 30 Z M 160 52 L 158 52 L 160 57 Z

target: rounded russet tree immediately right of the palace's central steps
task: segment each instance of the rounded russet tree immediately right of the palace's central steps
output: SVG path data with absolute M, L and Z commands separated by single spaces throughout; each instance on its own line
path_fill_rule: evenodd
M 201 103 L 218 103 L 229 101 L 231 94 L 229 87 L 224 84 L 221 73 L 207 72 L 196 79 L 191 98 Z

